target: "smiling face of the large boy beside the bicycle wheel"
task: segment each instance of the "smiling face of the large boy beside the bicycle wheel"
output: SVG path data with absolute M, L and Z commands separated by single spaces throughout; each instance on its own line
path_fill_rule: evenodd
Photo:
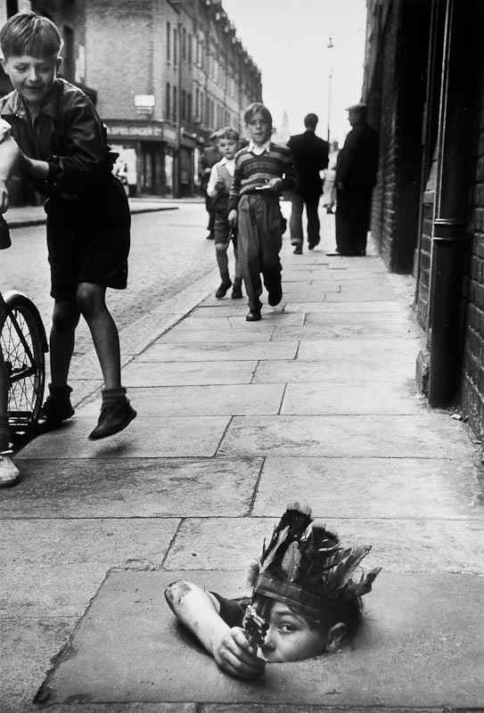
M 56 56 L 31 57 L 22 54 L 5 58 L 2 65 L 22 99 L 28 104 L 39 104 L 53 86 L 61 61 Z

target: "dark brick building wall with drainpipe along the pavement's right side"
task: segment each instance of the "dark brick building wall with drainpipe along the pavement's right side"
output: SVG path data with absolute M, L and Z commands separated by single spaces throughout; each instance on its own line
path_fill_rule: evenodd
M 480 0 L 367 0 L 363 98 L 380 130 L 372 233 L 413 273 L 432 406 L 484 434 L 484 55 Z

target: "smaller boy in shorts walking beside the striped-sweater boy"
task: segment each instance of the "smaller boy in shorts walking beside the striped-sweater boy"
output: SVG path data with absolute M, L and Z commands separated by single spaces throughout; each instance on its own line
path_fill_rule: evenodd
M 227 219 L 228 196 L 232 181 L 234 180 L 234 156 L 239 148 L 239 134 L 231 127 L 221 128 L 217 132 L 217 145 L 222 158 L 212 166 L 209 184 L 207 186 L 207 194 L 213 201 L 215 210 L 215 254 L 222 281 L 215 296 L 217 299 L 222 299 L 232 286 L 232 280 L 230 279 L 228 271 L 227 257 L 227 248 L 232 235 L 235 258 L 232 299 L 242 299 L 242 277 L 237 256 L 237 235 L 234 230 L 231 232 Z

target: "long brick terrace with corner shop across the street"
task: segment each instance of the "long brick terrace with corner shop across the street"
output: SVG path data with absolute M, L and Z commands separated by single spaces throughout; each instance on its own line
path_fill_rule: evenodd
M 193 194 L 209 135 L 261 99 L 220 0 L 0 0 L 0 22 L 30 7 L 61 29 L 62 76 L 96 101 L 131 193 Z

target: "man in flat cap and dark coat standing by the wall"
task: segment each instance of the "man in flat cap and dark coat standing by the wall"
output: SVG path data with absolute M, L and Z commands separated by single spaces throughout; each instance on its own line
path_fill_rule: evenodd
M 366 105 L 348 108 L 351 131 L 336 165 L 336 252 L 365 255 L 372 191 L 378 172 L 378 133 L 366 121 Z

